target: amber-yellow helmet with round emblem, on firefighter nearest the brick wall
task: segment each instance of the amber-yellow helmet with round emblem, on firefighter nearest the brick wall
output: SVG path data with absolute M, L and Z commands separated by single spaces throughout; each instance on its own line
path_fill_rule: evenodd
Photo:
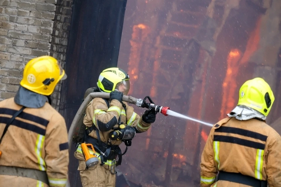
M 51 95 L 59 80 L 64 79 L 66 74 L 54 57 L 40 56 L 25 65 L 20 85 L 38 94 Z

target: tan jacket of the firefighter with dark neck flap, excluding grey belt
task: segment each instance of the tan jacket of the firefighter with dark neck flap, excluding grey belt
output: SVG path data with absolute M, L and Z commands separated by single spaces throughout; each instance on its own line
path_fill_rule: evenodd
M 14 98 L 0 102 L 0 137 L 8 120 L 22 106 Z M 11 123 L 0 150 L 1 166 L 46 171 L 51 187 L 65 186 L 68 175 L 68 136 L 64 118 L 49 104 L 25 108 Z M 35 179 L 0 175 L 0 187 L 48 186 Z

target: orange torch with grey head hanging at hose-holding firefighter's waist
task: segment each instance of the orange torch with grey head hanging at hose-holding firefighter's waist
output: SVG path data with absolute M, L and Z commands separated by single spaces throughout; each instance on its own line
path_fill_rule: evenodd
M 93 154 L 90 154 L 88 146 L 91 146 Z M 86 166 L 93 167 L 99 163 L 99 159 L 95 155 L 95 149 L 90 143 L 81 143 L 81 150 L 85 158 Z

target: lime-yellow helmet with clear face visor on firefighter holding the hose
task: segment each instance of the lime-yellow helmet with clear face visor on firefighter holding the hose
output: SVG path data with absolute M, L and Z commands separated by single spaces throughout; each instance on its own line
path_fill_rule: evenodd
M 127 95 L 130 89 L 129 75 L 120 68 L 107 68 L 100 73 L 97 86 L 101 91 L 112 92 L 114 90 Z M 122 90 L 121 86 L 122 85 Z M 120 88 L 119 88 L 120 87 Z

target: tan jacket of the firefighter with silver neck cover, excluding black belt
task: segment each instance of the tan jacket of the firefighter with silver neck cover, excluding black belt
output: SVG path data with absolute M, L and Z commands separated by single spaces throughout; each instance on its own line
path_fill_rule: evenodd
M 201 187 L 247 185 L 218 181 L 218 171 L 241 173 L 281 186 L 281 137 L 264 121 L 225 118 L 210 131 L 201 156 Z

